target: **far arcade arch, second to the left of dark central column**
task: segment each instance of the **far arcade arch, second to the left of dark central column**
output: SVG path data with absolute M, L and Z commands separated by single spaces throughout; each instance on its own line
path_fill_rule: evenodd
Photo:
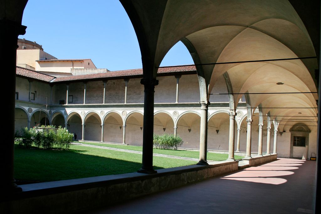
M 111 143 L 123 142 L 123 117 L 118 111 L 108 111 L 102 119 L 104 125 L 104 141 Z

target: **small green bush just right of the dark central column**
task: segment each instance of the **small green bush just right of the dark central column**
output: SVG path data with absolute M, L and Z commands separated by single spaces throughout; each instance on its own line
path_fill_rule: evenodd
M 153 136 L 153 145 L 156 149 L 172 149 L 177 150 L 179 146 L 183 144 L 183 140 L 180 136 L 174 136 L 173 134 L 156 135 Z

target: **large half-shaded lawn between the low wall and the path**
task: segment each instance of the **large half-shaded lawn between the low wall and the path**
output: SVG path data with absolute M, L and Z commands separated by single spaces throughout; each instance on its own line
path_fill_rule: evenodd
M 56 181 L 136 172 L 142 155 L 71 145 L 68 151 L 15 147 L 14 177 L 18 181 Z M 195 161 L 153 157 L 155 169 L 195 164 Z

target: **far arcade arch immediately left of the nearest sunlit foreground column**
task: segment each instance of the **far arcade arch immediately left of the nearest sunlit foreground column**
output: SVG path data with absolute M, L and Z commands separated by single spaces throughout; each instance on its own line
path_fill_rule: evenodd
M 199 149 L 201 116 L 195 111 L 186 111 L 176 119 L 177 135 L 184 143 L 181 147 Z

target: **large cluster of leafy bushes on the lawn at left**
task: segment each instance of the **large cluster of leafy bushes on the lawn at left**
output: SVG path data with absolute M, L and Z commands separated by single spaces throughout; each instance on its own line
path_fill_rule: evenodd
M 42 126 L 28 129 L 27 127 L 15 133 L 15 143 L 21 147 L 29 148 L 32 145 L 42 149 L 67 150 L 73 140 L 74 134 L 66 128 L 59 128 L 55 131 L 54 126 Z

